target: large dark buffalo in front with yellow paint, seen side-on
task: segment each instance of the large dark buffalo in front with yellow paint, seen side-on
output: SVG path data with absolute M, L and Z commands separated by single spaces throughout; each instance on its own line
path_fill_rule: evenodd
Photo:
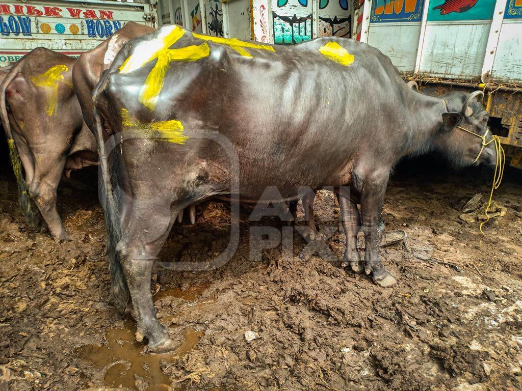
M 215 196 L 277 202 L 304 188 L 349 187 L 352 201 L 338 192 L 345 260 L 389 286 L 395 279 L 378 247 L 390 170 L 431 150 L 470 165 L 482 148 L 475 136 L 488 131 L 477 94 L 420 94 L 381 52 L 335 37 L 274 46 L 167 26 L 122 48 L 93 94 L 98 138 L 107 141 L 100 152 L 112 292 L 130 298 L 156 352 L 174 346 L 157 320 L 150 274 L 184 207 Z M 491 143 L 477 163 L 494 161 Z M 355 247 L 359 221 L 364 261 Z

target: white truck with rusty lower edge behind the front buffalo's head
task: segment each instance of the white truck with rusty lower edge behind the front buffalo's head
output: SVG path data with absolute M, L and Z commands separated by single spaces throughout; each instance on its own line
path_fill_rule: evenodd
M 484 90 L 490 127 L 522 168 L 522 0 L 368 0 L 358 13 L 355 38 L 424 92 Z

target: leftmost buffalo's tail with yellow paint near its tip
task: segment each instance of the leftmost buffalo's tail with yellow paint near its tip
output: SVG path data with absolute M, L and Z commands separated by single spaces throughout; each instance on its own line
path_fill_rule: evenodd
M 31 206 L 31 199 L 27 189 L 25 178 L 23 177 L 23 167 L 16 148 L 15 139 L 13 138 L 13 132 L 9 124 L 9 117 L 7 115 L 7 103 L 5 93 L 7 86 L 16 77 L 22 66 L 22 60 L 19 60 L 13 68 L 6 75 L 2 83 L 0 84 L 0 117 L 2 118 L 2 125 L 4 126 L 5 135 L 9 144 L 9 158 L 11 166 L 15 172 L 16 182 L 18 184 L 18 201 L 20 203 L 20 209 L 23 216 L 26 218 L 27 225 L 34 227 L 36 225 L 36 219 Z

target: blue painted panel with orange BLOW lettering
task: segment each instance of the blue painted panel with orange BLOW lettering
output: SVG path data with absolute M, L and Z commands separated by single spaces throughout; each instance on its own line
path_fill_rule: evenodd
M 370 23 L 420 22 L 424 0 L 375 0 Z

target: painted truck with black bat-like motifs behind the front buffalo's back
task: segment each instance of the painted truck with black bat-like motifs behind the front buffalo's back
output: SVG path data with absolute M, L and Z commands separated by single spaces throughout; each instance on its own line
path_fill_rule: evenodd
M 224 38 L 291 45 L 316 36 L 350 38 L 352 8 L 351 0 L 159 0 L 158 21 Z

